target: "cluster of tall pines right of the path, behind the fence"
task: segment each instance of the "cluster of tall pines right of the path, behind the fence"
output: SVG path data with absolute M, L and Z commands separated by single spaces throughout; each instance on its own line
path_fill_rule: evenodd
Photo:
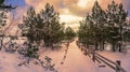
M 78 39 L 84 45 L 94 44 L 95 49 L 104 49 L 105 42 L 113 45 L 113 51 L 121 52 L 121 44 L 129 40 L 129 24 L 122 4 L 112 1 L 104 11 L 95 1 L 92 12 L 80 23 Z M 98 48 L 100 46 L 100 48 Z M 119 47 L 119 48 L 117 48 Z

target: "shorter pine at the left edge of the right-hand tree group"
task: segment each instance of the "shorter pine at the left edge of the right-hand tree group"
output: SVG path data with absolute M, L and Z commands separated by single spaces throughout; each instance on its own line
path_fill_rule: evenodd
M 90 14 L 87 14 L 87 17 L 80 21 L 80 27 L 78 30 L 78 41 L 82 43 L 87 48 L 89 45 L 93 45 L 95 43 L 95 27 L 91 20 Z

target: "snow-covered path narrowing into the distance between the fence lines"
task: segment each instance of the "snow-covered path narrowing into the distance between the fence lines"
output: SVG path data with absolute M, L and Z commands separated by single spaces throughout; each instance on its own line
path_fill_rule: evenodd
M 80 52 L 75 41 L 69 44 L 67 57 L 58 70 L 60 72 L 99 72 L 93 61 Z

